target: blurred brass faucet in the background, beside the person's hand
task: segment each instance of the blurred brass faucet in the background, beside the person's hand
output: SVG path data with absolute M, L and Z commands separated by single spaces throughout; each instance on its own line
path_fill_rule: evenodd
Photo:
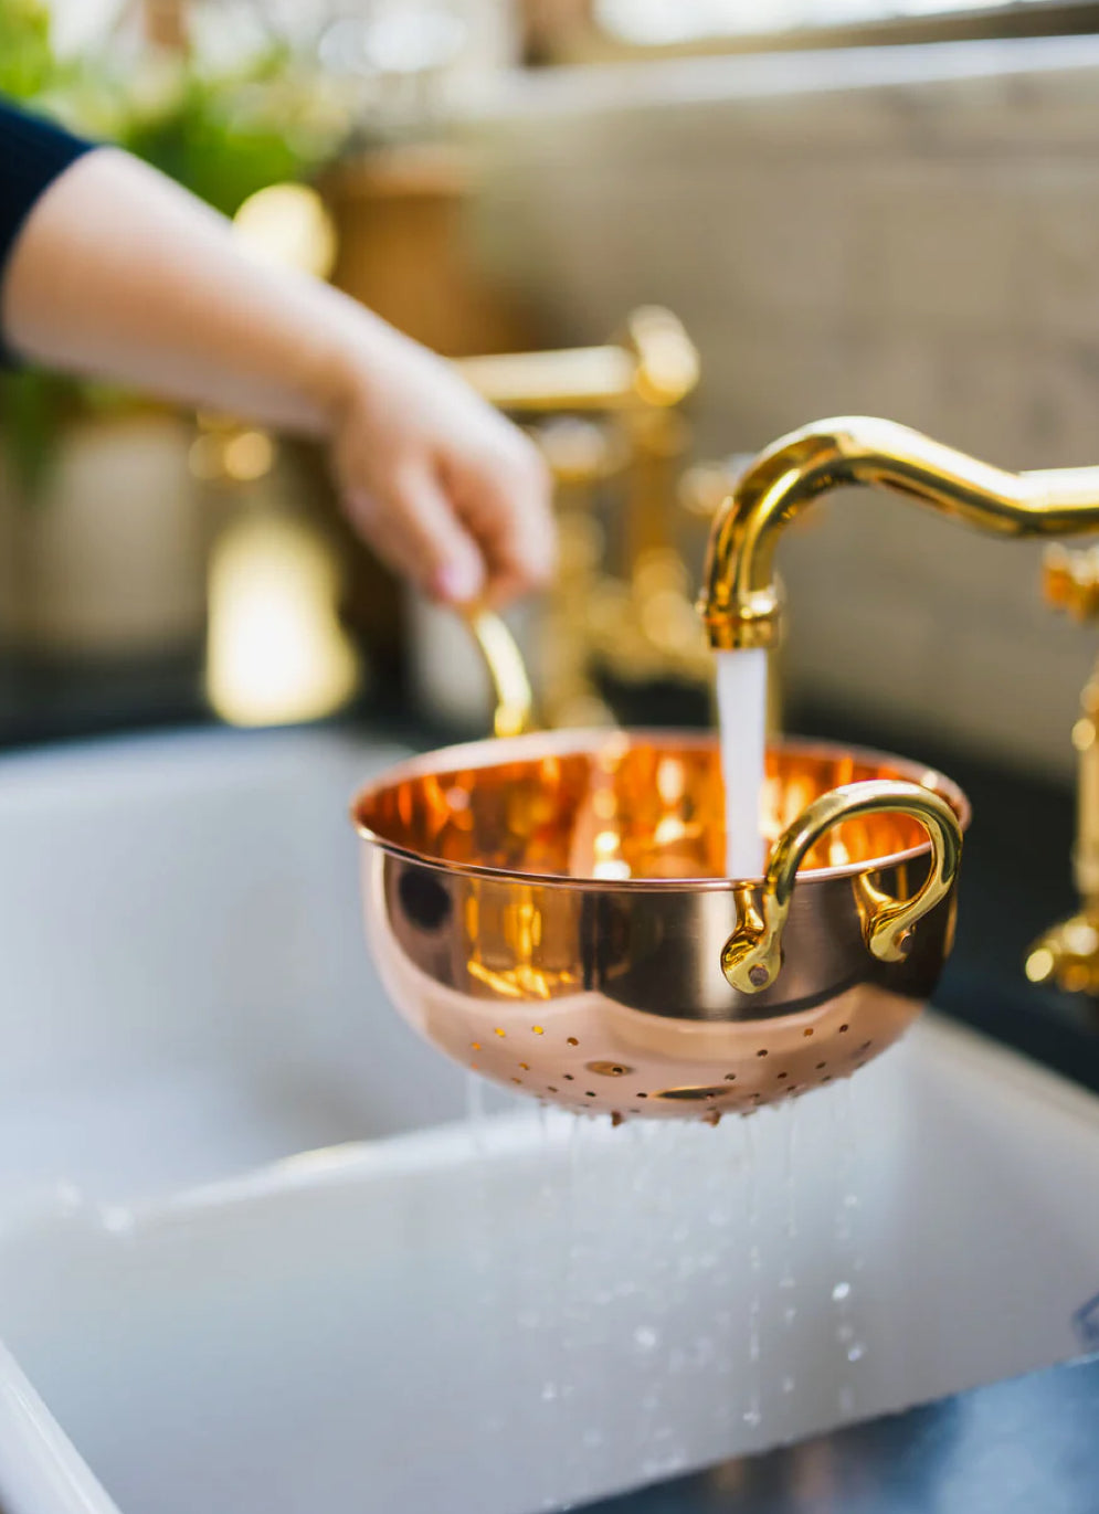
M 624 681 L 708 686 L 711 659 L 675 545 L 674 512 L 689 472 L 684 403 L 699 378 L 681 322 L 645 307 L 628 318 L 621 341 L 604 347 L 465 357 L 456 366 L 486 400 L 530 425 L 557 483 L 560 569 L 537 659 L 550 722 L 609 719 L 593 663 Z M 598 497 L 610 484 L 624 492 L 615 516 L 618 572 L 599 522 Z M 686 504 L 698 513 L 693 494 Z

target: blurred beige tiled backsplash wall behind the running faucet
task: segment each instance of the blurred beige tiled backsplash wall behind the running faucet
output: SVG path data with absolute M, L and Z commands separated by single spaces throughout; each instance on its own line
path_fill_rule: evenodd
M 550 76 L 477 130 L 486 254 L 565 341 L 671 306 L 702 454 L 861 412 L 1099 463 L 1099 38 Z M 1072 771 L 1099 627 L 1035 544 L 848 495 L 780 556 L 793 687 Z

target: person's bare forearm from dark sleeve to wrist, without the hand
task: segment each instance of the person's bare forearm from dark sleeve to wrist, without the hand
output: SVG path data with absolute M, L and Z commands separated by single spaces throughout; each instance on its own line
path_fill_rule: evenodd
M 348 371 L 360 383 L 372 348 L 400 341 L 335 289 L 247 257 L 223 217 L 111 148 L 35 204 L 2 300 L 29 360 L 313 435 L 332 431 Z

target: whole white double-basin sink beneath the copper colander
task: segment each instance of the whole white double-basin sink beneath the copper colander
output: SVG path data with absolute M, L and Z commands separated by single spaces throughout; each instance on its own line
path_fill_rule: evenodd
M 362 948 L 394 755 L 0 762 L 5 1514 L 536 1514 L 1081 1349 L 1099 1099 L 932 1016 L 718 1129 L 468 1122 Z

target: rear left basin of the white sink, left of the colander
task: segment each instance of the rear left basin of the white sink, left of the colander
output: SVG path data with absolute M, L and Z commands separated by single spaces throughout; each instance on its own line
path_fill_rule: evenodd
M 362 943 L 347 805 L 401 755 L 201 731 L 0 760 L 0 1211 L 465 1111 Z

